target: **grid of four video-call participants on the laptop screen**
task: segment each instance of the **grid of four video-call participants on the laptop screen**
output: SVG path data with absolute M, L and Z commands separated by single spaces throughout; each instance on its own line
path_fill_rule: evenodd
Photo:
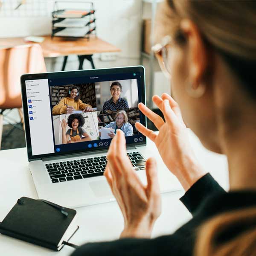
M 138 134 L 137 79 L 50 87 L 55 145 Z

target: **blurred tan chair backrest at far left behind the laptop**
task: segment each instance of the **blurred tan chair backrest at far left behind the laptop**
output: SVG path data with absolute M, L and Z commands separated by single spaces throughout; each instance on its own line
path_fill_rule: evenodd
M 46 72 L 40 45 L 0 49 L 0 109 L 21 108 L 20 76 Z

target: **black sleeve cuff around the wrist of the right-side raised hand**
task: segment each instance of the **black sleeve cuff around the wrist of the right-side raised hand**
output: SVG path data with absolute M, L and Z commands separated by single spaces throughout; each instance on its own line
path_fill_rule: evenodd
M 202 201 L 215 192 L 224 192 L 224 189 L 218 184 L 212 175 L 207 173 L 191 186 L 183 197 L 180 198 L 180 201 L 194 216 L 195 211 L 198 209 Z

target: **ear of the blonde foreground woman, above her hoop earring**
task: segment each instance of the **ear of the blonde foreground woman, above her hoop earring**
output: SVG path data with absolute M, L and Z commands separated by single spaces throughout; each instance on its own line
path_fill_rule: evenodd
M 191 20 L 182 20 L 180 29 L 187 41 L 188 79 L 192 82 L 193 89 L 196 90 L 207 71 L 209 62 L 207 47 L 198 27 Z

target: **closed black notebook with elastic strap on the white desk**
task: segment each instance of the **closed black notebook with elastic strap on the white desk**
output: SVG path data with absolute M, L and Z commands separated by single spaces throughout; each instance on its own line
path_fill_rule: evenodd
M 0 223 L 0 233 L 60 250 L 79 228 L 75 217 L 74 209 L 22 197 Z

